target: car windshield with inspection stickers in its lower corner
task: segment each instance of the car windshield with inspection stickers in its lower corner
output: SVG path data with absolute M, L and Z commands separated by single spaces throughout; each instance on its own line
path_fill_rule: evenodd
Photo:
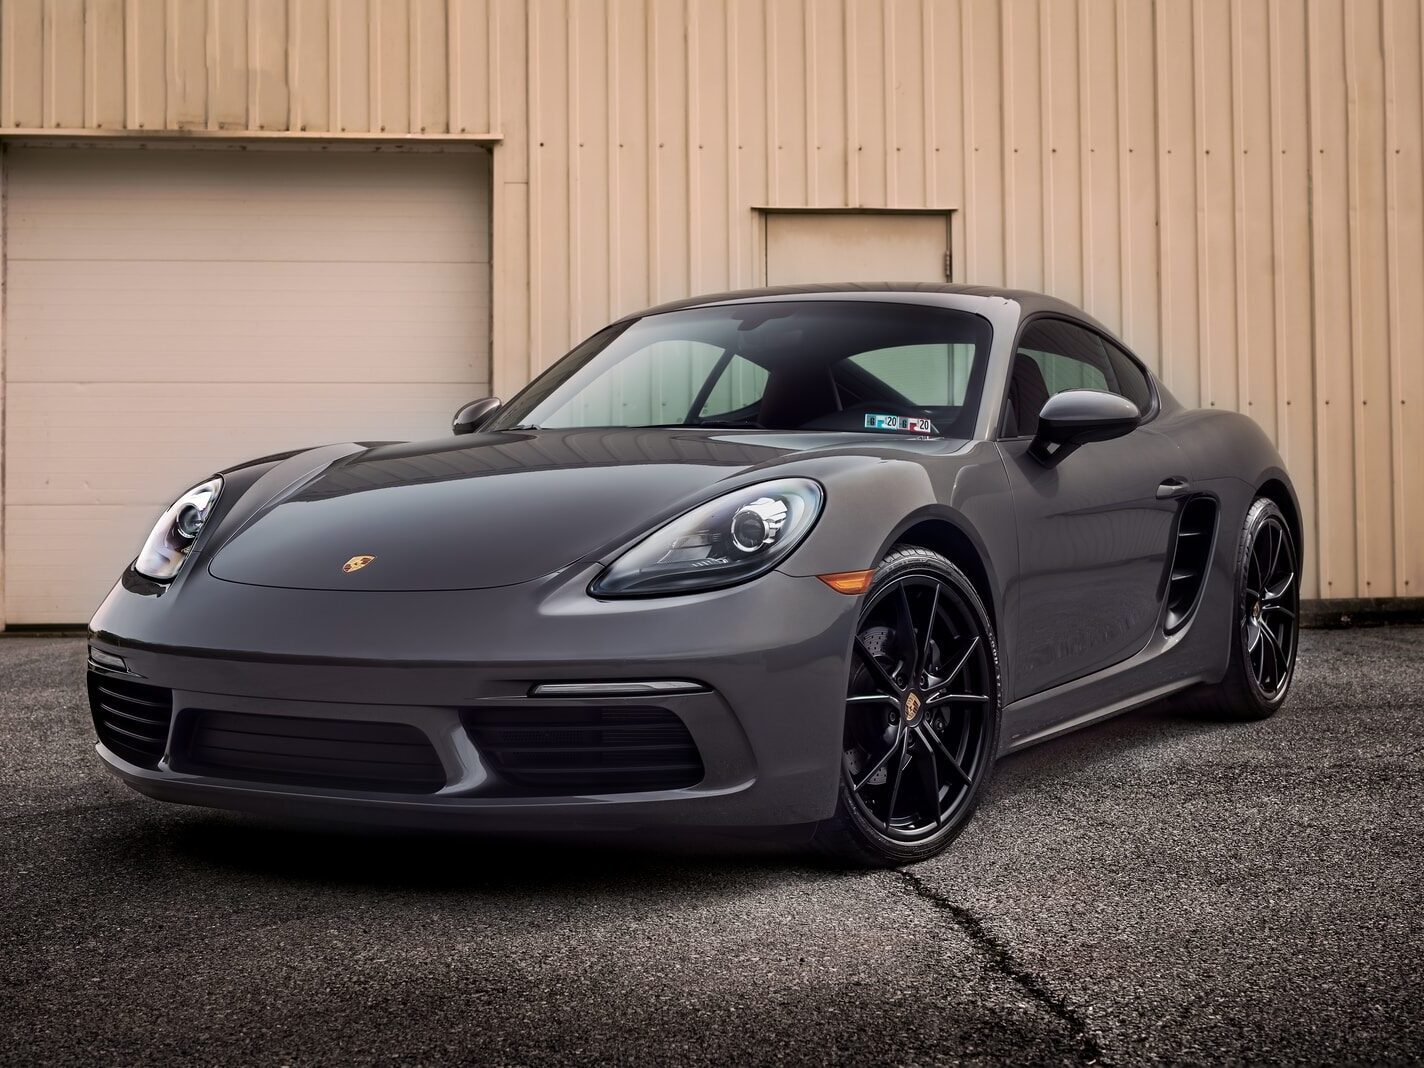
M 617 323 L 490 424 L 739 427 L 967 437 L 988 320 L 876 300 L 722 305 Z

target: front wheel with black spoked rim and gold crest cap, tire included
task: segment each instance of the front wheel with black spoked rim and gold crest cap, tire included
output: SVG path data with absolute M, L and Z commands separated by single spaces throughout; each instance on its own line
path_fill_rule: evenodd
M 1000 718 L 998 645 L 974 587 L 938 553 L 893 550 L 856 624 L 836 813 L 815 844 L 853 867 L 944 850 L 984 795 Z

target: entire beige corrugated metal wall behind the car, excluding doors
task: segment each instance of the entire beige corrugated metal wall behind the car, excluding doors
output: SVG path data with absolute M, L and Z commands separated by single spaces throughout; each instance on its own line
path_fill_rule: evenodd
M 1313 597 L 1424 594 L 1420 0 L 0 0 L 0 134 L 497 140 L 494 376 L 755 285 L 756 208 L 954 211 L 1274 437 Z

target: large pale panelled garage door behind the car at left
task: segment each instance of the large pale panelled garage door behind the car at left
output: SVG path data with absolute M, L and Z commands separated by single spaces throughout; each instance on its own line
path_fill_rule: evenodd
M 4 617 L 87 621 L 235 461 L 431 437 L 488 383 L 488 155 L 6 152 Z

